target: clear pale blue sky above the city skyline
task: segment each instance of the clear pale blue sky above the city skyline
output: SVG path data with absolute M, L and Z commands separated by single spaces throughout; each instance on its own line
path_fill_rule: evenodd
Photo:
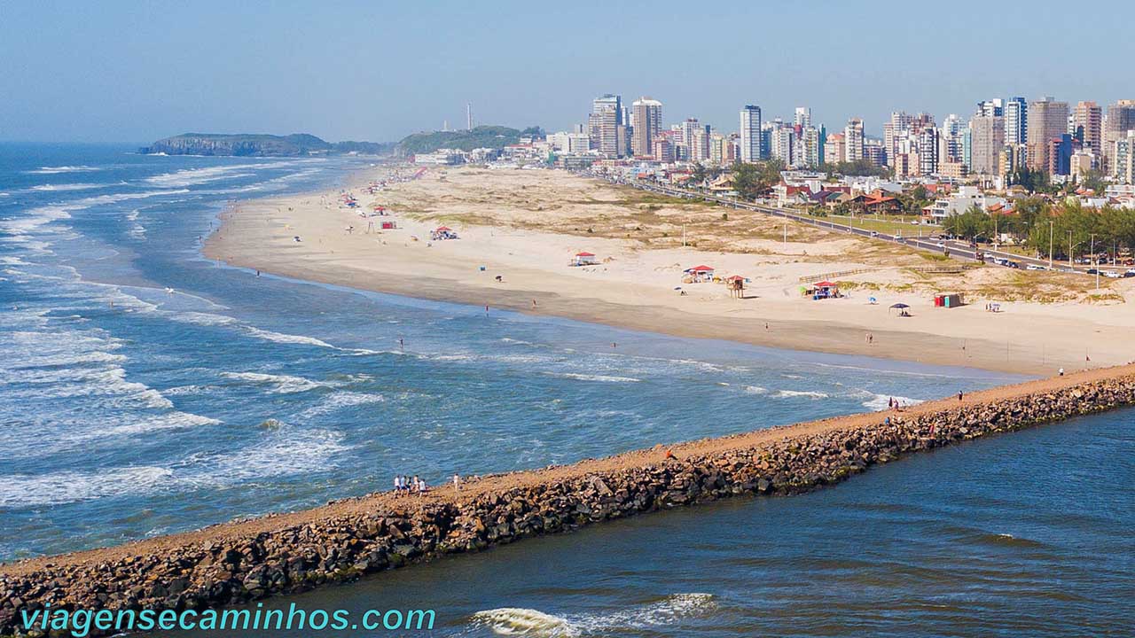
M 568 129 L 592 98 L 735 131 L 738 111 L 878 135 L 893 110 L 1135 98 L 1135 2 L 0 0 L 0 140 L 197 133 L 396 141 Z

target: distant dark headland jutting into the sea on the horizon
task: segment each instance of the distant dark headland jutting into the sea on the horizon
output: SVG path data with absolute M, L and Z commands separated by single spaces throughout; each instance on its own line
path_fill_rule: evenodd
M 382 154 L 390 144 L 375 142 L 327 142 L 308 133 L 292 135 L 184 133 L 158 140 L 140 153 L 167 156 L 297 157 L 310 154 Z

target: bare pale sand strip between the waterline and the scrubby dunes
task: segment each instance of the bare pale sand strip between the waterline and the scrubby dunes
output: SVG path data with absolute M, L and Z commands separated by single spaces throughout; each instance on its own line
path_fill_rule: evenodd
M 365 171 L 351 174 L 343 188 L 351 191 L 365 183 Z M 622 250 L 619 241 L 589 241 L 502 226 L 461 227 L 461 240 L 426 242 L 418 237 L 432 226 L 405 217 L 396 218 L 401 227 L 397 230 L 347 233 L 346 227 L 365 223 L 355 210 L 333 207 L 336 195 L 334 191 L 309 192 L 250 200 L 226 209 L 218 216 L 220 224 L 202 245 L 201 254 L 300 280 L 783 350 L 1033 377 L 1053 375 L 1058 369 L 1117 366 L 1133 359 L 1113 344 L 1123 343 L 1129 329 L 1125 324 L 1132 321 L 1130 327 L 1135 327 L 1135 317 L 1098 324 L 1065 316 L 1067 312 L 1043 314 L 1051 309 L 1041 309 L 1040 316 L 994 316 L 982 312 L 975 303 L 952 310 L 916 307 L 915 318 L 897 319 L 885 310 L 885 304 L 894 300 L 886 300 L 882 293 L 872 293 L 883 297 L 884 305 L 877 307 L 851 299 L 792 299 L 789 289 L 794 291 L 796 282 L 782 274 L 770 275 L 764 287 L 755 288 L 741 301 L 725 301 L 724 287 L 712 284 L 684 286 L 689 296 L 679 296 L 666 287 L 669 284 L 661 284 L 672 275 L 658 272 L 664 268 L 657 265 L 653 271 L 647 267 L 670 260 L 675 266 L 695 260 L 717 262 L 730 255 L 636 249 L 623 254 L 614 252 Z M 442 213 L 437 217 L 445 218 Z M 302 235 L 303 241 L 294 242 L 293 234 Z M 613 255 L 620 254 L 620 259 L 615 265 L 589 269 L 548 263 L 557 259 L 553 255 L 570 254 L 568 246 L 583 245 L 602 246 Z M 651 274 L 653 280 L 638 285 L 634 274 L 606 272 L 630 260 L 642 260 L 636 272 L 640 278 L 642 271 Z M 493 275 L 498 272 L 503 279 L 495 282 Z M 896 299 L 914 301 L 909 295 Z M 869 343 L 865 338 L 868 333 Z

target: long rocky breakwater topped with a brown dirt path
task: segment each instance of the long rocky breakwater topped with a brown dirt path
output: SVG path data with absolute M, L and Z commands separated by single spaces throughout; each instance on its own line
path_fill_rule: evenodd
M 376 494 L 325 507 L 0 566 L 0 636 L 20 612 L 203 610 L 297 593 L 444 554 L 738 494 L 790 495 L 876 463 L 1135 404 L 1135 369 L 1096 370 L 918 405 L 573 465 L 486 477 L 460 495 Z

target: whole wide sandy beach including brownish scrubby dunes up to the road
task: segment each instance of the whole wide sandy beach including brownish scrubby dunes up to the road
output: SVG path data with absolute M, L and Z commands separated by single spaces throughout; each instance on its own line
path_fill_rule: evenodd
M 238 202 L 204 253 L 264 272 L 490 311 L 792 350 L 1036 376 L 1135 359 L 1125 338 L 1135 327 L 1125 303 L 1130 280 L 1107 282 L 1096 294 L 1088 278 L 1054 272 L 925 275 L 917 269 L 941 263 L 902 246 L 659 200 L 564 171 L 430 168 L 390 179 L 414 173 L 380 166 L 352 175 L 344 191 L 356 209 L 342 203 L 339 190 Z M 377 179 L 388 183 L 368 193 Z M 360 216 L 375 205 L 387 215 Z M 378 229 L 390 220 L 397 228 Z M 431 241 L 442 225 L 460 238 Z M 570 266 L 579 252 L 597 263 Z M 724 284 L 683 282 L 683 270 L 699 265 L 747 277 L 745 297 Z M 847 296 L 800 295 L 801 277 L 827 274 Z M 965 292 L 968 304 L 934 308 L 934 292 L 951 291 Z M 990 302 L 1001 311 L 986 311 Z M 910 305 L 911 317 L 890 310 L 894 303 Z

